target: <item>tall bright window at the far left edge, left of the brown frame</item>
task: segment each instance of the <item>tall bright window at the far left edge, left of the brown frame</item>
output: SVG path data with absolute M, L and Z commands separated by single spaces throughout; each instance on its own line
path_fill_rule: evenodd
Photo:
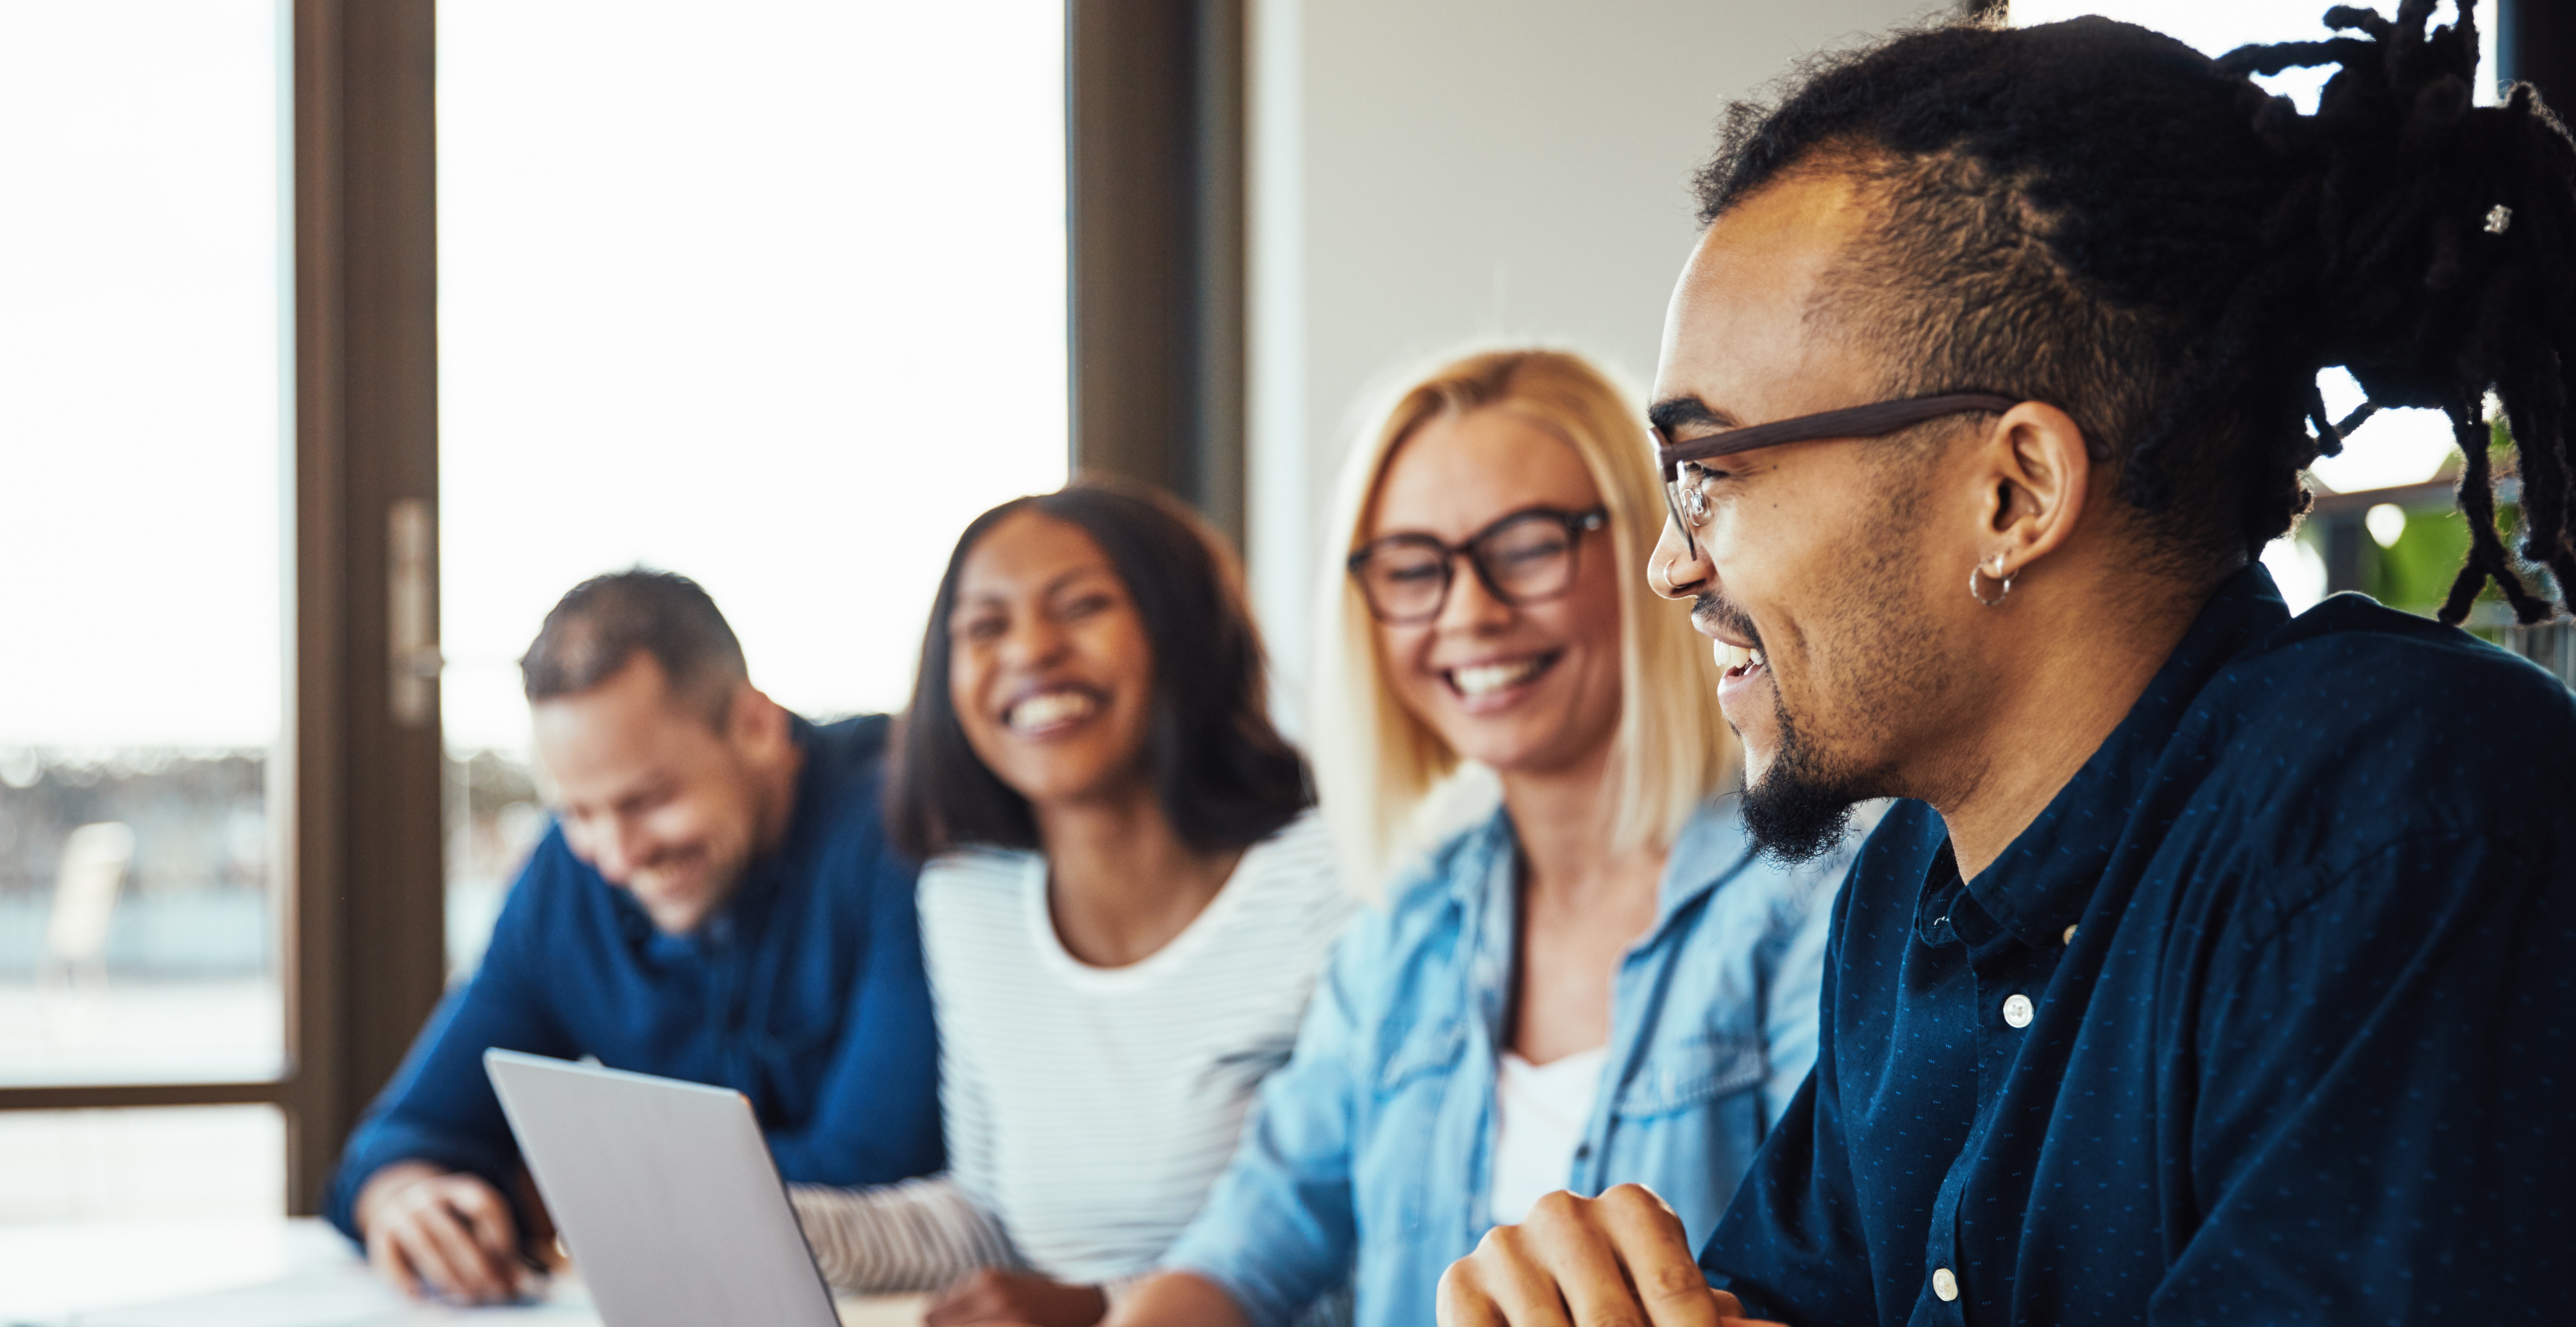
M 0 0 L 0 1085 L 283 1067 L 286 5 Z M 268 1105 L 0 1113 L 0 1221 L 278 1211 Z

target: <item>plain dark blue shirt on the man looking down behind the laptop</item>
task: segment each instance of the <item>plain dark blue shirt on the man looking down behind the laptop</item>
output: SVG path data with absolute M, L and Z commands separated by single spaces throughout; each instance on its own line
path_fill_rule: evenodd
M 786 840 L 688 935 L 657 930 L 551 827 L 482 969 L 440 1002 L 350 1134 L 325 1203 L 332 1224 L 355 1237 L 358 1188 L 399 1160 L 513 1193 L 518 1141 L 484 1077 L 487 1046 L 734 1087 L 791 1183 L 940 1170 L 914 863 L 878 814 L 886 724 L 793 724 L 804 770 Z

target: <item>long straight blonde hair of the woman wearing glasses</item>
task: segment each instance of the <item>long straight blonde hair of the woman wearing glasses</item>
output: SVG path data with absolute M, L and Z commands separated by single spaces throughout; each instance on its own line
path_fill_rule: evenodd
M 1574 448 L 1610 510 L 1618 567 L 1620 719 L 1610 755 L 1618 807 L 1613 850 L 1669 848 L 1682 822 L 1734 776 L 1734 734 L 1718 714 L 1716 662 L 1677 603 L 1646 587 L 1664 495 L 1651 443 L 1610 376 L 1564 350 L 1486 350 L 1445 363 L 1352 446 L 1334 500 L 1324 603 L 1316 613 L 1314 752 L 1324 814 L 1350 881 L 1378 881 L 1427 832 L 1425 804 L 1458 773 L 1458 752 L 1399 701 L 1376 618 L 1345 559 L 1368 541 L 1368 515 L 1396 448 L 1440 417 L 1502 410 Z

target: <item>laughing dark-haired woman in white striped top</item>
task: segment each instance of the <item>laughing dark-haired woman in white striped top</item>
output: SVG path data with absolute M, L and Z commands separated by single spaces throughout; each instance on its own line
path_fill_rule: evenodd
M 1355 910 L 1262 696 L 1234 562 L 1177 505 L 1077 484 L 958 539 L 889 794 L 948 1172 L 796 1190 L 837 1286 L 1084 1324 L 1198 1211 Z

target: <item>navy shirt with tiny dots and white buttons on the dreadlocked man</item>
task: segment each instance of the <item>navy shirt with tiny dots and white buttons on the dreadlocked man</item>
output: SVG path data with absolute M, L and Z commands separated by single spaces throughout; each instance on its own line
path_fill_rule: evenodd
M 1960 881 L 1899 804 L 1700 1252 L 1832 1324 L 2576 1322 L 2576 698 L 2231 577 Z

